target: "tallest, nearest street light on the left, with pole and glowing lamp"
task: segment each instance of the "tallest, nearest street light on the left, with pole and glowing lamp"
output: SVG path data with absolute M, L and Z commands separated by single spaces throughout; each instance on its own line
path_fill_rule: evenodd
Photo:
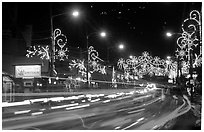
M 51 26 L 51 41 L 52 41 L 52 45 L 51 45 L 51 72 L 50 72 L 50 76 L 54 75 L 55 71 L 55 40 L 54 40 L 54 29 L 53 29 L 53 19 L 57 16 L 62 16 L 68 14 L 68 12 L 65 13 L 61 13 L 61 14 L 57 14 L 57 15 L 51 15 L 50 17 L 50 26 Z M 72 16 L 74 16 L 75 18 L 79 16 L 79 12 L 77 10 L 72 11 Z

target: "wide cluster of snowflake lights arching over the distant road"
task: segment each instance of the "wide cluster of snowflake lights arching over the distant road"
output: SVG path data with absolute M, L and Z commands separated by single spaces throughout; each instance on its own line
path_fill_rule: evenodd
M 160 59 L 159 57 L 153 58 L 146 51 L 139 57 L 133 56 L 127 60 L 120 58 L 117 65 L 119 69 L 124 70 L 124 78 L 126 80 L 128 80 L 128 78 L 134 79 L 133 75 L 139 77 L 147 74 L 150 76 L 164 76 L 166 67 L 165 60 Z

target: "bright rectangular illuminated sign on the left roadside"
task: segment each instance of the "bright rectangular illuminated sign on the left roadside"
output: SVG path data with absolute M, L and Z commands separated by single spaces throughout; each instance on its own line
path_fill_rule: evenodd
M 41 66 L 40 65 L 15 66 L 15 76 L 16 78 L 41 77 Z

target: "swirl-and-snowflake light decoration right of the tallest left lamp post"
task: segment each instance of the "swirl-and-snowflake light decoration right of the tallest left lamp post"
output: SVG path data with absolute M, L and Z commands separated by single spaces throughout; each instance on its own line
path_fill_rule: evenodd
M 64 59 L 68 59 L 67 52 L 68 48 L 66 48 L 67 37 L 61 33 L 60 29 L 54 30 L 54 58 L 59 59 L 60 61 L 64 61 Z

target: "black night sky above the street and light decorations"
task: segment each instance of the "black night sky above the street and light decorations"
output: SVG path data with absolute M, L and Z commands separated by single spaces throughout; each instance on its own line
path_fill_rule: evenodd
M 14 3 L 3 3 L 3 26 L 12 19 L 9 13 L 13 9 L 12 4 Z M 79 18 L 61 15 L 53 19 L 53 26 L 60 28 L 67 36 L 69 46 L 82 49 L 86 48 L 86 33 L 105 30 L 105 39 L 97 35 L 90 37 L 90 45 L 95 47 L 103 59 L 106 58 L 107 47 L 115 46 L 119 42 L 123 42 L 126 48 L 124 51 L 112 48 L 111 58 L 128 57 L 130 54 L 138 56 L 143 51 L 161 58 L 173 55 L 178 36 L 167 38 L 165 33 L 181 32 L 181 24 L 189 17 L 190 11 L 201 10 L 201 2 L 28 2 L 17 5 L 16 25 L 32 25 L 33 39 L 36 40 L 50 37 L 50 14 L 79 9 Z

